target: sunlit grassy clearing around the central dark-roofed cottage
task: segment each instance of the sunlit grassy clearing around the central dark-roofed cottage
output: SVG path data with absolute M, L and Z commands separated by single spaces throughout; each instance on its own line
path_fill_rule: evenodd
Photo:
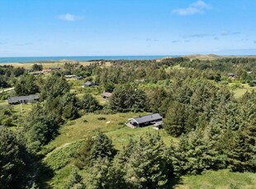
M 107 136 L 111 137 L 116 149 L 121 150 L 121 146 L 126 145 L 130 137 L 139 137 L 148 131 L 157 132 L 150 126 L 136 129 L 126 127 L 124 123 L 128 118 L 137 117 L 140 114 L 145 115 L 147 113 L 85 114 L 83 117 L 69 121 L 61 127 L 59 136 L 57 136 L 54 141 L 50 142 L 46 148 L 55 149 L 61 145 L 86 138 L 87 136 L 93 136 L 96 131 L 102 130 L 106 132 Z M 98 118 L 103 119 L 100 120 Z M 163 137 L 167 145 L 170 144 L 172 139 L 174 142 L 178 141 L 168 136 L 164 130 L 160 130 L 159 134 Z

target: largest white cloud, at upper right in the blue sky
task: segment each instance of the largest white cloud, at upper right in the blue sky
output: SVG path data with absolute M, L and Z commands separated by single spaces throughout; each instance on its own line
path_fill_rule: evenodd
M 203 14 L 207 9 L 211 9 L 211 6 L 203 2 L 202 0 L 197 0 L 197 2 L 193 2 L 187 8 L 178 8 L 174 9 L 173 13 L 176 13 L 180 16 L 189 16 L 194 14 Z

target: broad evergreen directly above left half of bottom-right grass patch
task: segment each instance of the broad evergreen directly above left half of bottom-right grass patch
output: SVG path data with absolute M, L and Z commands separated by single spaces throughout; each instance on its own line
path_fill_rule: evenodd
M 209 141 L 206 133 L 198 129 L 183 135 L 178 146 L 173 145 L 170 149 L 174 172 L 179 176 L 220 168 L 225 162 L 213 144 L 214 141 Z

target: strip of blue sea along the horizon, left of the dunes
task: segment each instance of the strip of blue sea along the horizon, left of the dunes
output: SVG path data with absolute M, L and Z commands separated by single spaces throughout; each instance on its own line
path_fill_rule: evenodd
M 0 57 L 1 63 L 9 62 L 36 62 L 36 61 L 59 61 L 63 59 L 74 61 L 89 61 L 89 60 L 149 60 L 165 57 L 180 57 L 178 55 L 152 55 L 152 56 L 79 56 L 79 57 Z

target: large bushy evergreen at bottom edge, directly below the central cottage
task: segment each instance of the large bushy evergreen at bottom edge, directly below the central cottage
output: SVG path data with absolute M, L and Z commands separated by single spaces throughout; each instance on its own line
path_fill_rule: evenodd
M 120 164 L 126 168 L 126 182 L 132 188 L 165 188 L 170 170 L 159 135 L 147 134 L 131 142 L 119 155 Z

